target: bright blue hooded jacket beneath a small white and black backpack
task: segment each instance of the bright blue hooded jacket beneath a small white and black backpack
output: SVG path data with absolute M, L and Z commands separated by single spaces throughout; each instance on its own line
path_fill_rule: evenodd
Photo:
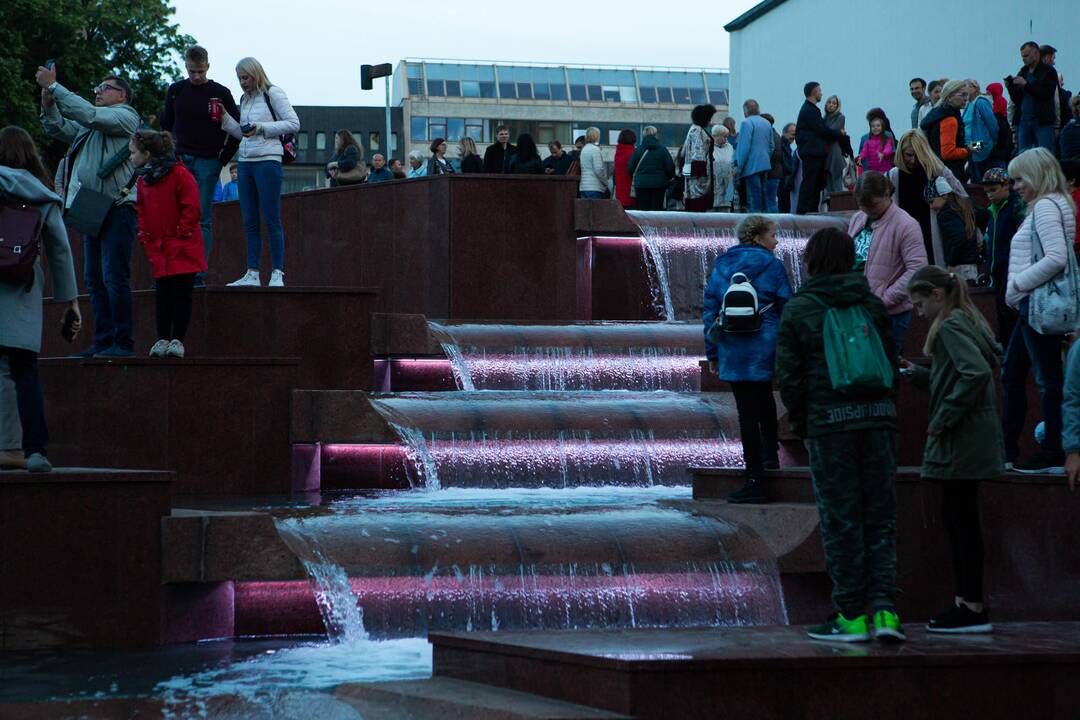
M 731 276 L 744 273 L 757 291 L 761 329 L 757 332 L 713 334 L 716 316 L 724 307 L 724 294 L 731 287 Z M 777 334 L 784 303 L 792 297 L 792 283 L 780 258 L 760 245 L 735 245 L 721 253 L 713 263 L 705 287 L 705 356 L 719 363 L 720 380 L 727 382 L 766 382 L 772 380 L 777 356 Z

